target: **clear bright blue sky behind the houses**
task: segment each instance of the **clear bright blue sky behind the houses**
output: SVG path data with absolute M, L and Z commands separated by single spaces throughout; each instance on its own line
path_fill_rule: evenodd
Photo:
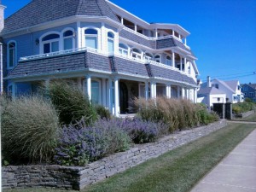
M 5 18 L 30 0 L 2 0 Z M 111 0 L 147 22 L 183 26 L 199 79 L 256 83 L 256 0 Z

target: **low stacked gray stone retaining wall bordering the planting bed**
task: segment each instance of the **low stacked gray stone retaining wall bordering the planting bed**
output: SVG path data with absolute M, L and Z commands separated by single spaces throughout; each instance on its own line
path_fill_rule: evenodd
M 155 143 L 135 145 L 128 151 L 110 155 L 87 166 L 6 166 L 3 167 L 3 189 L 51 187 L 60 189 L 83 189 L 90 183 L 96 183 L 137 166 L 146 160 L 160 156 L 185 143 L 194 141 L 217 131 L 226 125 L 221 120 L 193 130 L 180 131 L 160 138 Z

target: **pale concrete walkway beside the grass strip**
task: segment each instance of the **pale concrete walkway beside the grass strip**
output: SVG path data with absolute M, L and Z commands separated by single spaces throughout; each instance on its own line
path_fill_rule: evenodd
M 256 192 L 256 130 L 238 144 L 191 192 Z

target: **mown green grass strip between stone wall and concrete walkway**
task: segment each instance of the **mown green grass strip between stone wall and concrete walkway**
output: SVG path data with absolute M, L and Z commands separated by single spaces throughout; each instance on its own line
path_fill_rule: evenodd
M 195 183 L 256 128 L 230 124 L 207 137 L 183 145 L 153 160 L 90 185 L 83 192 L 189 191 Z M 57 189 L 13 189 L 8 192 L 64 192 Z M 73 190 L 72 190 L 73 191 Z

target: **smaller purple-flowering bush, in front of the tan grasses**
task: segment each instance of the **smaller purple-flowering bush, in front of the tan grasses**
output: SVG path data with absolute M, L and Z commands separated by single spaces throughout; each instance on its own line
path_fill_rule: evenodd
M 168 133 L 168 126 L 164 123 L 154 123 L 143 119 L 124 119 L 121 125 L 134 143 L 150 143 Z

